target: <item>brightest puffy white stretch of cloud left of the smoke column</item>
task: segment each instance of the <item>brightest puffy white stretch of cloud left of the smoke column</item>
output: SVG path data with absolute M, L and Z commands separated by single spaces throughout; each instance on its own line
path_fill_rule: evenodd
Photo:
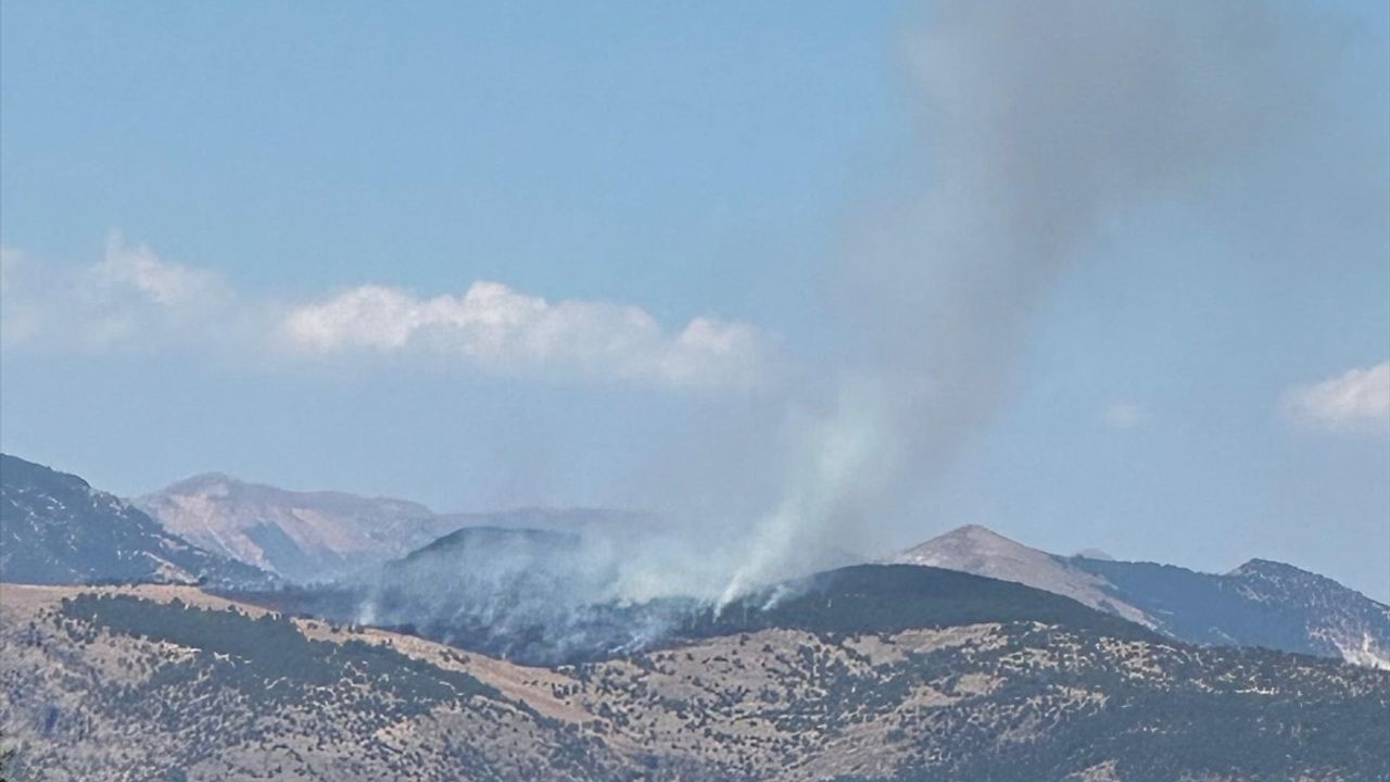
M 755 385 L 763 352 L 758 331 L 741 323 L 696 317 L 673 334 L 631 305 L 548 302 L 486 281 L 428 299 L 363 285 L 293 309 L 281 333 L 310 355 L 416 352 L 499 373 L 673 387 Z

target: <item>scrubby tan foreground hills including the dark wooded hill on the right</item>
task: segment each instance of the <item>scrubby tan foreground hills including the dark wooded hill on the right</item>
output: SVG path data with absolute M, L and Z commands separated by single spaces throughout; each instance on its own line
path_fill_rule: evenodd
M 1390 673 L 930 568 L 834 570 L 557 667 L 188 587 L 0 589 L 0 733 L 54 782 L 1390 776 Z

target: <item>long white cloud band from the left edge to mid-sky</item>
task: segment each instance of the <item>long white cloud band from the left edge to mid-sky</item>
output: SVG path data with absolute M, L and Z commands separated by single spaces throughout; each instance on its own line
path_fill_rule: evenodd
M 666 328 L 641 308 L 546 301 L 500 282 L 417 298 L 361 285 L 317 302 L 239 296 L 218 274 L 111 234 L 86 266 L 0 255 L 6 349 L 192 351 L 416 360 L 545 380 L 619 380 L 673 388 L 751 388 L 766 374 L 752 326 L 696 317 Z M 259 360 L 259 359 L 252 359 Z

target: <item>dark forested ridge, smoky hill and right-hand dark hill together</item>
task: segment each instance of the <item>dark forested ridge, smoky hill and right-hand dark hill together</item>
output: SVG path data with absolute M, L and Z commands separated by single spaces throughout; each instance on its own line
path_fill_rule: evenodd
M 855 565 L 784 582 L 713 607 L 691 597 L 644 603 L 616 593 L 612 561 L 578 536 L 463 529 L 386 565 L 367 584 L 234 597 L 275 609 L 418 635 L 528 665 L 607 660 L 764 628 L 898 632 L 1020 619 L 1148 637 L 1073 600 L 938 568 Z

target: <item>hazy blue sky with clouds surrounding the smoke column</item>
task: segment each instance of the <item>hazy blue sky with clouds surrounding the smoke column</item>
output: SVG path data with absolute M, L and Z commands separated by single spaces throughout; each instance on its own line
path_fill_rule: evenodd
M 1180 186 L 1098 185 L 1119 206 L 1077 223 L 1005 345 L 967 353 L 1002 366 L 972 367 L 988 405 L 906 447 L 940 459 L 860 465 L 891 500 L 837 545 L 984 523 L 1200 569 L 1284 559 L 1390 598 L 1390 13 L 1272 8 L 1269 46 L 1308 82 L 1272 96 L 1297 107 L 1258 134 L 1234 117 Z M 974 115 L 966 78 L 919 96 L 919 68 L 959 74 L 930 63 L 976 40 L 949 21 L 7 3 L 3 447 L 126 494 L 224 470 L 441 509 L 756 519 L 787 505 L 788 430 L 863 369 L 862 333 L 905 334 L 878 341 L 897 355 L 937 323 L 842 310 L 863 308 L 863 237 L 949 179 L 942 111 Z M 1194 67 L 1245 74 L 1226 65 Z M 933 274 L 902 285 L 909 309 L 954 289 Z M 890 429 L 917 429 L 905 409 Z

